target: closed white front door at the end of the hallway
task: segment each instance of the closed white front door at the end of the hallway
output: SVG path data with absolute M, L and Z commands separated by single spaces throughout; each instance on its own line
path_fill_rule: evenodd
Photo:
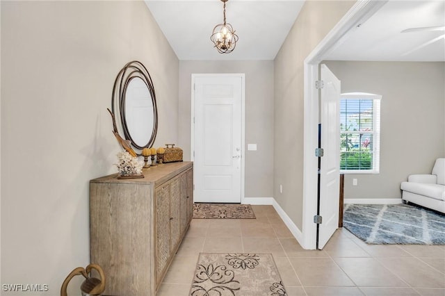
M 193 75 L 195 202 L 241 202 L 243 74 Z

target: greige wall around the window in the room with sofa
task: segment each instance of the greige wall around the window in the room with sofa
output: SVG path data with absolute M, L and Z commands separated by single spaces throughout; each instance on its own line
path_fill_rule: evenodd
M 401 198 L 408 174 L 430 174 L 435 159 L 445 157 L 445 63 L 325 64 L 341 80 L 341 92 L 382 95 L 380 174 L 346 174 L 344 197 Z

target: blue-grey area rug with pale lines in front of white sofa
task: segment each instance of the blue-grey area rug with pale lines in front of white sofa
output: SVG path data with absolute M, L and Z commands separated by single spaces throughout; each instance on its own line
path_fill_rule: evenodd
M 343 227 L 369 244 L 445 245 L 445 215 L 407 204 L 346 204 Z

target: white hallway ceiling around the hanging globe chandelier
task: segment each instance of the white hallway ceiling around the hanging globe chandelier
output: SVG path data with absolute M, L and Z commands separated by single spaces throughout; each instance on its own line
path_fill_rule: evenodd
M 179 60 L 273 60 L 304 1 L 229 0 L 227 23 L 239 37 L 231 54 L 219 54 L 210 35 L 223 22 L 218 0 L 145 0 Z

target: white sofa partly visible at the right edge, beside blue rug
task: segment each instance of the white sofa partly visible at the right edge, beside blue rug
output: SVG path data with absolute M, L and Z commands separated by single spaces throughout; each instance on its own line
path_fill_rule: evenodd
M 401 183 L 402 199 L 445 213 L 445 158 L 437 158 L 431 174 L 411 174 Z

